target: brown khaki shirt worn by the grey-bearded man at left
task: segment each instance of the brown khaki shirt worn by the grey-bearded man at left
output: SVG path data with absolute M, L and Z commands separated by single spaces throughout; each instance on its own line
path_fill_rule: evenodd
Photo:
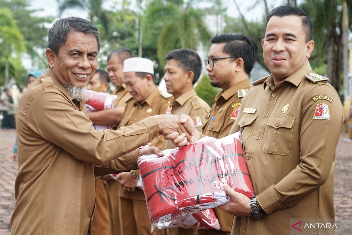
M 136 158 L 110 160 L 158 135 L 159 124 L 151 117 L 118 131 L 95 131 L 85 102 L 72 100 L 50 69 L 23 94 L 17 112 L 13 235 L 90 234 L 93 164 L 115 172 L 136 169 Z

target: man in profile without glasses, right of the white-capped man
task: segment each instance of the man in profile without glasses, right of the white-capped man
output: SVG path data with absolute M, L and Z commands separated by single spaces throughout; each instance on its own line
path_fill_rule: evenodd
M 202 62 L 199 55 L 190 49 L 170 51 L 165 56 L 168 62 L 164 67 L 164 80 L 168 93 L 174 96 L 170 102 L 171 113 L 177 116 L 185 113 L 189 115 L 198 131 L 202 130 L 209 105 L 198 97 L 193 85 L 199 79 Z M 162 150 L 173 149 L 171 141 L 164 140 Z M 196 229 L 169 228 L 164 230 L 168 235 L 196 235 Z

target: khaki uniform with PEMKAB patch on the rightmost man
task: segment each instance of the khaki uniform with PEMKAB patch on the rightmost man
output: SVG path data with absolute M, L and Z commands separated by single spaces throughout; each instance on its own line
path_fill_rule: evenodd
M 235 217 L 233 235 L 289 235 L 290 218 L 335 218 L 335 149 L 344 113 L 335 89 L 311 70 L 307 62 L 276 86 L 272 75 L 253 82 L 242 100 L 230 134 L 242 130 L 247 167 L 266 214 Z

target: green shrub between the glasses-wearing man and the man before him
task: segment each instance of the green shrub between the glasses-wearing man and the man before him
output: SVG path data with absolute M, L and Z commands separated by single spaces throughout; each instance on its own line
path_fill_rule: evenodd
M 210 106 L 214 103 L 215 95 L 221 91 L 221 89 L 215 88 L 210 84 L 210 79 L 207 75 L 204 75 L 198 81 L 197 86 L 194 89 L 197 95 Z

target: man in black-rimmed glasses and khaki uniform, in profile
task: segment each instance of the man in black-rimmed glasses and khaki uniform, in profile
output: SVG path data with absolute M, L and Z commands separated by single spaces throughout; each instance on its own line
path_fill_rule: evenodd
M 203 134 L 214 138 L 228 135 L 237 118 L 241 99 L 250 89 L 249 74 L 257 58 L 257 45 L 243 33 L 225 33 L 211 39 L 206 69 L 210 82 L 222 88 L 206 116 Z M 193 118 L 193 117 L 192 117 Z M 220 230 L 199 230 L 200 234 L 230 234 L 233 216 L 215 208 Z

